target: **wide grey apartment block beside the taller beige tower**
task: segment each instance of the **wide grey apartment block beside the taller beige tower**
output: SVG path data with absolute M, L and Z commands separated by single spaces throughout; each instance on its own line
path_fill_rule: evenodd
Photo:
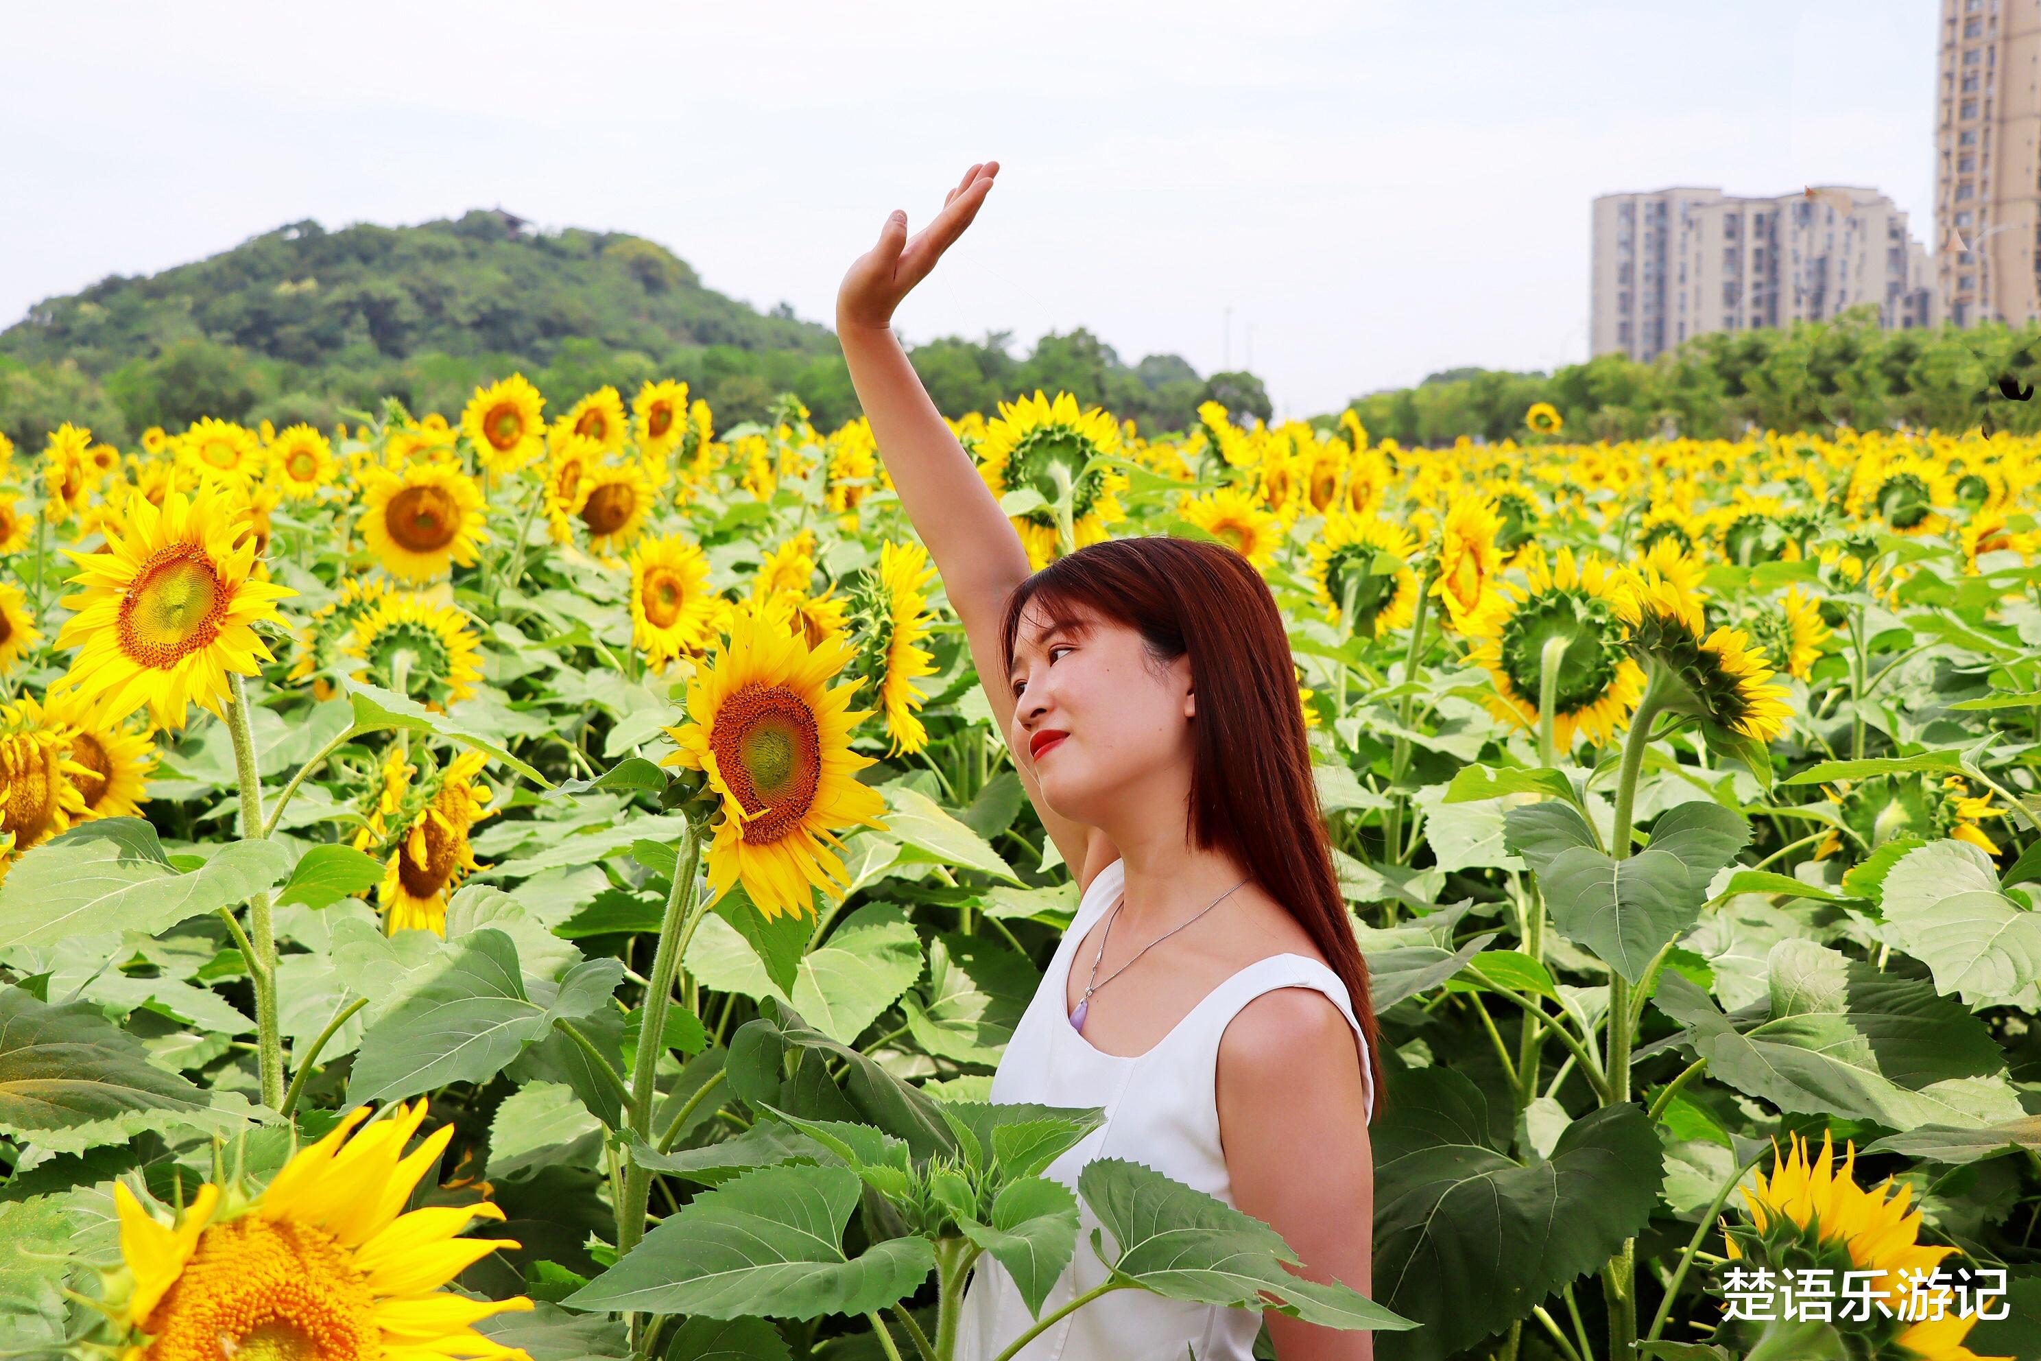
M 1594 355 L 1645 361 L 1710 331 L 1829 320 L 1859 304 L 1876 304 L 1886 329 L 1939 318 L 1931 255 L 1876 190 L 1733 198 L 1672 188 L 1594 200 Z

